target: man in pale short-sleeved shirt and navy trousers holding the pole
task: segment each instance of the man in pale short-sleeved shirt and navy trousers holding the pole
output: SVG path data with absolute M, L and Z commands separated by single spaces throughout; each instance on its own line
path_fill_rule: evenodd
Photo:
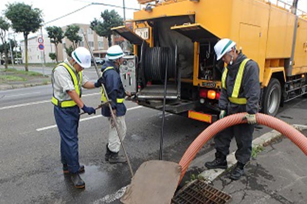
M 61 137 L 61 162 L 63 172 L 71 173 L 71 180 L 76 188 L 84 188 L 85 183 L 79 173 L 84 166 L 79 164 L 78 124 L 81 108 L 91 115 L 96 111 L 87 107 L 81 100 L 81 87 L 92 89 L 99 83 L 89 82 L 82 70 L 91 66 L 91 54 L 85 47 L 78 47 L 63 63 L 52 70 L 52 104 L 54 117 Z M 101 86 L 101 85 L 100 85 Z

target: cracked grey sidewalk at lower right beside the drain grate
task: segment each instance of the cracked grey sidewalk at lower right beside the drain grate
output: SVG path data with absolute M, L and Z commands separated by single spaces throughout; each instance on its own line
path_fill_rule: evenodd
M 307 126 L 299 125 L 307 136 Z M 264 135 L 267 139 L 275 137 L 271 143 L 251 159 L 245 167 L 245 175 L 238 181 L 229 179 L 230 169 L 205 170 L 202 175 L 215 188 L 232 196 L 231 204 L 242 203 L 306 203 L 307 200 L 307 158 L 304 153 L 276 131 Z M 264 143 L 261 136 L 253 141 Z M 193 168 L 214 159 L 215 150 L 195 159 Z M 236 163 L 234 152 L 227 158 L 228 166 Z M 205 167 L 204 167 L 205 168 Z

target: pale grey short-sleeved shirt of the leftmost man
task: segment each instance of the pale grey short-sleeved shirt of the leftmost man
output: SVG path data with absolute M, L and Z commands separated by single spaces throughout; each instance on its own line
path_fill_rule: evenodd
M 68 64 L 72 68 L 79 81 L 79 74 L 76 73 L 76 69 L 69 63 L 68 59 L 65 59 L 64 63 Z M 89 79 L 84 75 L 83 71 L 81 73 L 81 85 L 83 86 L 86 82 L 89 81 Z M 71 97 L 68 95 L 67 91 L 75 90 L 75 86 L 68 70 L 61 65 L 57 66 L 51 76 L 54 97 L 59 101 L 71 100 Z M 81 91 L 81 87 L 79 87 L 79 89 Z

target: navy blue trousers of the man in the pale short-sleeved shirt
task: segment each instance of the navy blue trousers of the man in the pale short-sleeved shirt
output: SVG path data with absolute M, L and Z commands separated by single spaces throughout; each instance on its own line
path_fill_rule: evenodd
M 78 153 L 78 125 L 79 113 L 78 106 L 59 108 L 54 106 L 54 118 L 61 136 L 61 162 L 68 165 L 71 173 L 79 171 Z

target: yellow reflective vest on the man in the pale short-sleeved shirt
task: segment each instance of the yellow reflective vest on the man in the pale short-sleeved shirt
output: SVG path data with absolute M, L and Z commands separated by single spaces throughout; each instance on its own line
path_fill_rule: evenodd
M 60 63 L 58 64 L 57 66 L 63 66 L 65 67 L 69 74 L 71 75 L 71 78 L 73 80 L 73 84 L 74 84 L 74 87 L 75 87 L 75 91 L 77 92 L 77 94 L 79 95 L 79 97 L 81 98 L 81 91 L 80 91 L 80 87 L 81 87 L 81 82 L 82 82 L 82 72 L 79 71 L 79 81 L 78 81 L 78 78 L 75 74 L 75 72 L 72 70 L 72 68 L 66 64 L 66 63 Z M 56 67 L 57 67 L 56 66 Z M 56 68 L 55 67 L 55 68 Z M 52 71 L 54 72 L 55 68 L 52 69 Z M 75 103 L 75 101 L 73 101 L 72 99 L 71 100 L 58 100 L 55 96 L 54 96 L 54 93 L 52 95 L 52 99 L 51 99 L 51 103 L 54 104 L 55 106 L 58 106 L 58 107 L 61 107 L 61 108 L 67 108 L 67 107 L 73 107 L 73 106 L 76 106 L 77 104 Z

